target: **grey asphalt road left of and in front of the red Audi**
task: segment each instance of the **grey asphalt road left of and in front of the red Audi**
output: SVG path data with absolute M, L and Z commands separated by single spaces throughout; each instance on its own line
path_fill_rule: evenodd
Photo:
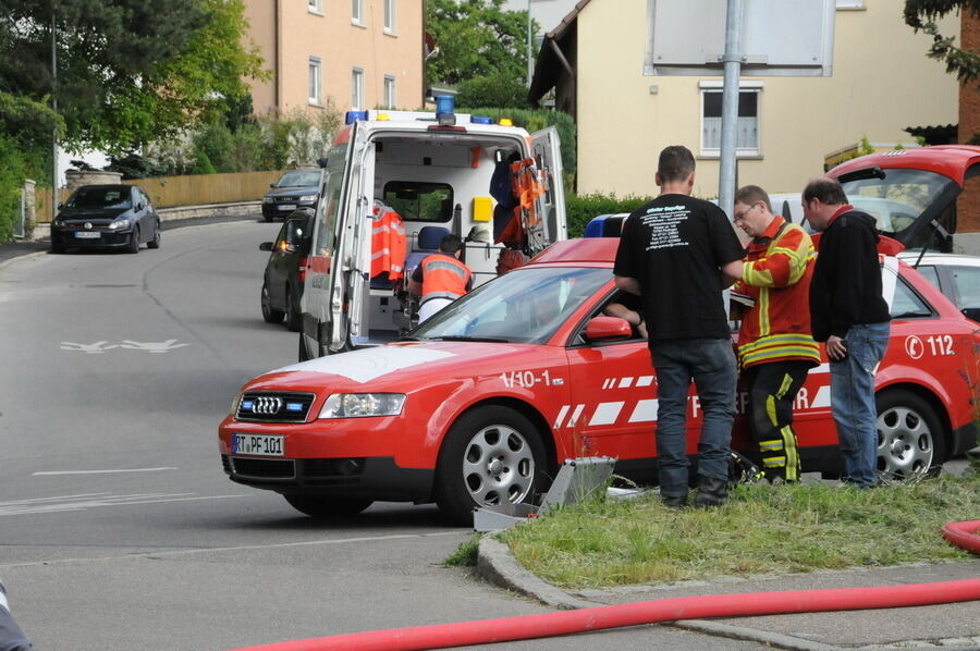
M 258 244 L 278 229 L 0 265 L 0 576 L 37 649 L 221 650 L 549 612 L 440 565 L 471 531 L 433 506 L 322 524 L 226 479 L 218 422 L 244 381 L 296 357 L 297 335 L 259 311 Z M 505 648 L 597 646 L 763 648 L 663 626 Z

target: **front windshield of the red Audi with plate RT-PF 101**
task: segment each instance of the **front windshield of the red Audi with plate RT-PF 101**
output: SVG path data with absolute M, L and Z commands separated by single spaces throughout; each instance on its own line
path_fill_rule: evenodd
M 542 344 L 611 278 L 609 269 L 516 269 L 445 307 L 409 339 Z

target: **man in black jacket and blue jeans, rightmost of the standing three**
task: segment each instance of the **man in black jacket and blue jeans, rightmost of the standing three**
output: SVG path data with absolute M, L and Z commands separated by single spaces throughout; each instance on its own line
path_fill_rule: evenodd
M 844 480 L 878 482 L 874 371 L 889 344 L 874 218 L 847 204 L 841 184 L 817 179 L 803 193 L 804 217 L 823 234 L 810 283 L 813 339 L 826 342 L 831 410 L 844 455 Z

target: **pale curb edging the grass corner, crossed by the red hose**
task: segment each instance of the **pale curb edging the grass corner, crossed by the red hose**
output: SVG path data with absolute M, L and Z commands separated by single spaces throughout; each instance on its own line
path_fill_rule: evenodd
M 477 574 L 494 586 L 529 597 L 559 610 L 574 611 L 601 607 L 603 605 L 592 601 L 576 599 L 564 590 L 560 590 L 536 577 L 517 563 L 507 545 L 493 538 L 483 537 L 477 543 Z M 840 647 L 812 642 L 779 632 L 732 626 L 708 619 L 678 619 L 660 624 L 715 637 L 760 642 L 776 649 L 788 649 L 789 651 L 840 650 Z

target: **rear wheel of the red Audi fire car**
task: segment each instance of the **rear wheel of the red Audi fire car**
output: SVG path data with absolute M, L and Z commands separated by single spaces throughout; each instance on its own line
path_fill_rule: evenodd
M 878 470 L 885 480 L 908 479 L 945 460 L 945 432 L 921 396 L 891 389 L 874 397 L 878 408 Z

